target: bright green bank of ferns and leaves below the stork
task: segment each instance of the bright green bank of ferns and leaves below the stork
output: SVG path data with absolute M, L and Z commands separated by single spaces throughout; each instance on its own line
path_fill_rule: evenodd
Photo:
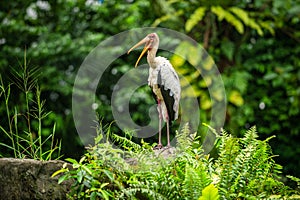
M 177 133 L 176 148 L 155 150 L 97 127 L 95 146 L 80 161 L 67 159 L 59 182 L 73 180 L 71 199 L 297 199 L 300 195 L 280 181 L 282 167 L 256 128 L 243 138 L 226 132 L 217 137 L 218 158 L 203 153 L 200 140 L 186 124 Z M 112 138 L 114 143 L 107 138 Z M 117 149 L 113 144 L 123 148 Z M 121 144 L 121 145 L 120 145 Z M 289 176 L 300 184 L 300 179 Z

